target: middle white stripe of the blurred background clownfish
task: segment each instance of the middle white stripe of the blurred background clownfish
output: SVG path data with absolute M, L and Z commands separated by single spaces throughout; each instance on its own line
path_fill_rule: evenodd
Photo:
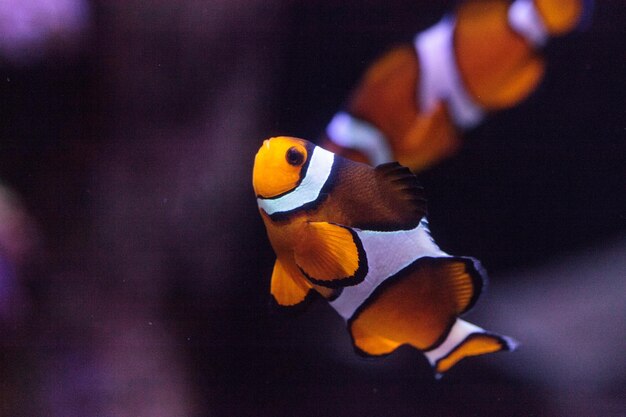
M 458 73 L 453 32 L 454 20 L 444 18 L 415 37 L 421 71 L 418 100 L 425 113 L 442 100 L 447 101 L 454 123 L 471 128 L 484 118 L 484 111 L 466 91 Z

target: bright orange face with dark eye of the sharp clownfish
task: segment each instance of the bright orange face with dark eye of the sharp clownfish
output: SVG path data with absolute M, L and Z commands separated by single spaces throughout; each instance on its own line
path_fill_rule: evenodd
M 310 150 L 304 139 L 279 136 L 266 139 L 254 158 L 252 185 L 258 197 L 272 198 L 293 190 L 302 180 Z

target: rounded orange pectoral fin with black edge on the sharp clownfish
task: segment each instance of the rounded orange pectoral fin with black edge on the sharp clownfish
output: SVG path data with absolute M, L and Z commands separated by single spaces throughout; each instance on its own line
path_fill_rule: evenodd
M 367 274 L 365 252 L 356 232 L 332 223 L 309 222 L 295 259 L 311 282 L 324 287 L 356 285 Z

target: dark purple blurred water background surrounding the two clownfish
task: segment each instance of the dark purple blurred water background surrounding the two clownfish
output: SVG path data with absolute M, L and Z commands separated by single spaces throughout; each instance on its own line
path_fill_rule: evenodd
M 621 0 L 419 175 L 440 246 L 490 272 L 468 317 L 518 352 L 434 381 L 271 300 L 256 149 L 316 138 L 454 4 L 1 3 L 0 416 L 625 416 Z

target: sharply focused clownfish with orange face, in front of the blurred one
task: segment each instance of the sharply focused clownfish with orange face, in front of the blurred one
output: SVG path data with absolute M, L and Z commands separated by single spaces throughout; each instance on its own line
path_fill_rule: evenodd
M 435 375 L 459 360 L 516 342 L 461 320 L 486 279 L 480 263 L 432 239 L 415 175 L 397 162 L 376 168 L 303 139 L 267 139 L 252 182 L 276 253 L 278 304 L 321 294 L 347 322 L 355 350 L 382 356 L 408 344 Z

